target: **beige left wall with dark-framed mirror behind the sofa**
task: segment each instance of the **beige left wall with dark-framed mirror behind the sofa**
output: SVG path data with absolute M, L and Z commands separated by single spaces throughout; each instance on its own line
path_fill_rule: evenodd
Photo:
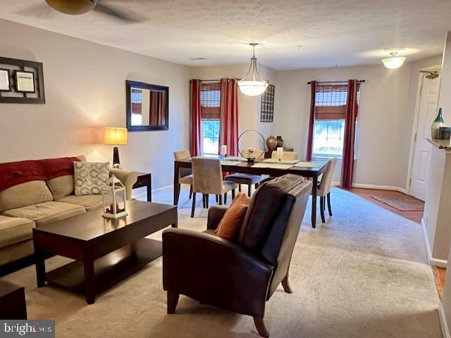
M 85 154 L 111 161 L 102 127 L 125 127 L 125 80 L 169 87 L 169 130 L 130 132 L 124 168 L 173 182 L 173 154 L 188 144 L 190 68 L 0 20 L 1 56 L 44 64 L 46 101 L 0 104 L 0 162 Z

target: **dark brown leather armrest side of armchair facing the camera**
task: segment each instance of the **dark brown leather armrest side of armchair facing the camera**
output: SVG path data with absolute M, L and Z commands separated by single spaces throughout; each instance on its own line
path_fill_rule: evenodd
M 273 266 L 214 234 L 163 232 L 163 289 L 237 313 L 264 315 Z

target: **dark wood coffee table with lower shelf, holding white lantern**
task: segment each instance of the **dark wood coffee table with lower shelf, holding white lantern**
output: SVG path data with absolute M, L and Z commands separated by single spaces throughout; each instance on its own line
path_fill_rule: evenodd
M 102 210 L 35 227 L 37 286 L 47 282 L 85 294 L 88 304 L 97 294 L 161 256 L 161 241 L 144 238 L 171 225 L 177 227 L 177 207 L 128 202 L 128 215 L 112 220 Z M 75 261 L 45 271 L 46 253 Z

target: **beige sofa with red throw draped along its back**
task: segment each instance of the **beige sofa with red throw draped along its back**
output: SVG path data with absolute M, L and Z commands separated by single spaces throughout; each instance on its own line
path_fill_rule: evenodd
M 86 161 L 85 156 L 77 156 Z M 111 169 L 124 184 L 127 199 L 137 180 L 134 172 Z M 32 229 L 101 208 L 101 195 L 75 196 L 73 175 L 33 180 L 0 191 L 0 265 L 34 253 Z

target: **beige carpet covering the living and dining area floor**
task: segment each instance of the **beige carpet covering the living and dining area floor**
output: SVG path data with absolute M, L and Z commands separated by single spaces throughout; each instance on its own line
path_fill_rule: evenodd
M 168 189 L 154 198 L 171 203 L 171 196 Z M 187 191 L 180 201 L 180 227 L 203 230 L 201 201 L 194 219 Z M 271 337 L 442 337 L 419 225 L 340 189 L 332 206 L 333 217 L 316 230 L 307 211 L 290 268 L 294 293 L 280 287 L 267 303 Z M 47 266 L 64 261 L 54 257 Z M 34 267 L 6 279 L 25 286 L 30 318 L 56 318 L 56 337 L 258 337 L 249 316 L 185 296 L 177 313 L 166 315 L 161 258 L 94 305 L 55 287 L 37 289 Z

